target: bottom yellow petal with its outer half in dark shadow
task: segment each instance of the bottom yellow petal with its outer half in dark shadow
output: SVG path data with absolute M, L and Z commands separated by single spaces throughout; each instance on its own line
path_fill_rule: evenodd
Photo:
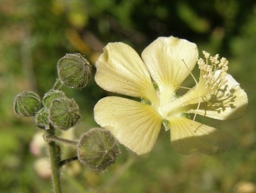
M 185 117 L 172 118 L 169 124 L 172 146 L 182 154 L 194 151 L 214 154 L 227 150 L 232 144 L 233 138 L 228 133 Z

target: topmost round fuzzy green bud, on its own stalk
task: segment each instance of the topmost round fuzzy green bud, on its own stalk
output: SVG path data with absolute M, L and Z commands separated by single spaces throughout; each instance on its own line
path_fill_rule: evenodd
M 83 88 L 91 77 L 91 64 L 81 54 L 66 54 L 57 64 L 61 83 L 71 88 Z

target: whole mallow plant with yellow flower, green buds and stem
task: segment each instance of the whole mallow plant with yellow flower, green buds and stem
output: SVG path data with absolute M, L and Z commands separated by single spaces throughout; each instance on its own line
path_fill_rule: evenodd
M 96 83 L 106 91 L 140 101 L 119 96 L 99 100 L 94 119 L 102 128 L 89 130 L 79 140 L 57 137 L 55 130 L 66 131 L 81 118 L 78 104 L 61 90 L 63 85 L 83 88 L 90 79 L 91 65 L 81 54 L 67 54 L 58 61 L 58 79 L 42 98 L 32 91 L 19 93 L 14 98 L 14 112 L 33 116 L 45 132 L 54 192 L 61 192 L 60 169 L 64 164 L 78 159 L 89 169 L 104 170 L 115 162 L 118 142 L 138 155 L 147 154 L 160 128 L 170 130 L 172 147 L 182 154 L 227 150 L 232 137 L 195 121 L 196 115 L 218 120 L 239 118 L 246 110 L 247 94 L 227 73 L 226 58 L 206 51 L 202 55 L 199 58 L 195 43 L 173 36 L 153 41 L 143 50 L 142 58 L 125 43 L 108 43 L 96 61 Z M 192 74 L 196 64 L 199 80 Z M 181 86 L 188 76 L 195 81 L 192 88 Z M 187 92 L 179 96 L 179 89 Z M 77 155 L 61 160 L 56 143 L 75 146 Z

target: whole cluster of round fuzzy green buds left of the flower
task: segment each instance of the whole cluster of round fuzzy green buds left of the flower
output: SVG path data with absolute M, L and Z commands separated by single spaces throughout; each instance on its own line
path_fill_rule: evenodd
M 14 112 L 18 116 L 34 116 L 36 125 L 45 129 L 44 139 L 47 143 L 76 145 L 77 158 L 83 165 L 92 170 L 104 170 L 115 162 L 119 154 L 118 142 L 111 132 L 94 128 L 84 133 L 79 142 L 57 137 L 54 132 L 55 128 L 63 131 L 70 129 L 81 118 L 75 100 L 69 99 L 60 88 L 62 85 L 85 87 L 91 77 L 91 65 L 81 54 L 67 54 L 58 61 L 57 73 L 58 79 L 53 89 L 46 92 L 42 100 L 32 91 L 19 93 L 14 98 Z M 61 165 L 60 154 L 53 149 L 51 151 L 50 159 L 55 159 Z

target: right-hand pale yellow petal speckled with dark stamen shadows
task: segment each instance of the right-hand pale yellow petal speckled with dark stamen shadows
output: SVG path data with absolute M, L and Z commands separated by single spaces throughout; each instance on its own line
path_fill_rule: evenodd
M 219 74 L 220 70 L 217 70 L 215 76 Z M 208 101 L 203 98 L 199 110 L 196 110 L 199 99 L 189 97 L 191 94 L 194 95 L 192 92 L 196 91 L 188 91 L 179 99 L 182 100 L 184 98 L 185 100 L 175 102 L 182 103 L 184 110 L 188 113 L 197 113 L 218 120 L 234 120 L 242 117 L 247 108 L 247 94 L 240 88 L 239 83 L 231 75 L 226 75 L 226 80 L 228 80 L 227 83 L 220 90 L 206 95 Z M 179 106 L 178 103 L 173 104 L 173 106 Z

